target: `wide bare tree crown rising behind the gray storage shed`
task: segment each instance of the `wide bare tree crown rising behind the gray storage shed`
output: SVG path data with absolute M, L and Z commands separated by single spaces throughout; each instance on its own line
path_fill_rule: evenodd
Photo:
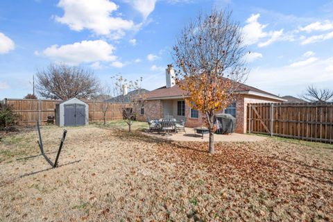
M 89 99 L 98 87 L 92 71 L 80 67 L 51 64 L 37 71 L 37 92 L 46 99 Z

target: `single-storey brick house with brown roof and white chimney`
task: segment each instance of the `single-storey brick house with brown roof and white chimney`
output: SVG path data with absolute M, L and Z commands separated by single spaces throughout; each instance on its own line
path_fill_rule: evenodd
M 176 85 L 175 71 L 171 65 L 166 69 L 166 85 L 146 93 L 146 101 L 137 119 L 146 121 L 161 119 L 168 115 L 177 120 L 185 119 L 186 126 L 193 128 L 203 126 L 203 114 L 191 109 L 185 103 L 187 92 Z M 232 114 L 236 117 L 236 133 L 246 133 L 246 107 L 248 103 L 281 103 L 286 101 L 274 94 L 264 92 L 261 89 L 240 85 L 237 89 L 237 97 L 234 103 L 221 112 Z

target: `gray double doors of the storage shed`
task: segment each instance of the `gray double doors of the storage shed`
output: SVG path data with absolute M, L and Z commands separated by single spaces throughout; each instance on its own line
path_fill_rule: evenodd
M 64 125 L 80 126 L 85 125 L 85 105 L 68 104 L 64 105 Z

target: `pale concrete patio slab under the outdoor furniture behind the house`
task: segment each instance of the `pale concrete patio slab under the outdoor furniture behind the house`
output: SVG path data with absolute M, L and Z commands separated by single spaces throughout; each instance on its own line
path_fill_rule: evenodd
M 145 135 L 158 137 L 160 139 L 170 139 L 173 141 L 184 141 L 184 142 L 208 142 L 209 135 L 204 134 L 203 137 L 201 135 L 195 134 L 193 128 L 186 128 L 185 132 L 178 132 L 178 133 L 144 133 Z M 239 133 L 232 133 L 230 135 L 214 135 L 215 142 L 257 142 L 263 141 L 266 137 L 260 137 L 256 135 L 247 135 L 247 134 L 239 134 Z

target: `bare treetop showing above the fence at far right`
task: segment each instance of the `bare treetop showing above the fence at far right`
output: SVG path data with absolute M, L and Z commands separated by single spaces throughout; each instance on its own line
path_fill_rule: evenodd
M 327 103 L 333 101 L 333 90 L 318 89 L 313 85 L 308 85 L 306 92 L 300 95 L 300 98 L 312 103 Z

